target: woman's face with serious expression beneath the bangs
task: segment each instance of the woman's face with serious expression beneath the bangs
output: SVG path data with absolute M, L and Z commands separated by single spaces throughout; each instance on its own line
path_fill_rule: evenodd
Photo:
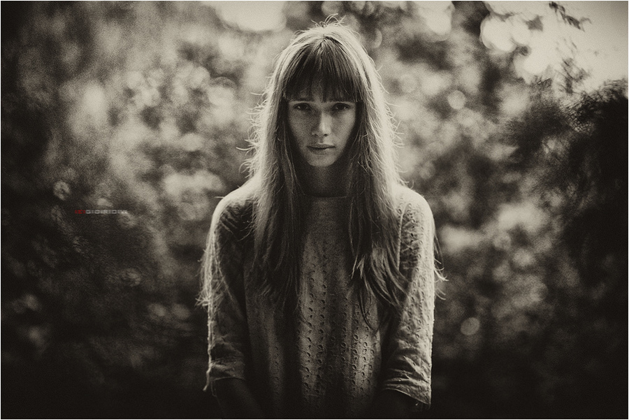
M 345 153 L 356 125 L 356 102 L 323 101 L 321 89 L 299 94 L 288 103 L 294 146 L 305 164 L 325 168 Z

